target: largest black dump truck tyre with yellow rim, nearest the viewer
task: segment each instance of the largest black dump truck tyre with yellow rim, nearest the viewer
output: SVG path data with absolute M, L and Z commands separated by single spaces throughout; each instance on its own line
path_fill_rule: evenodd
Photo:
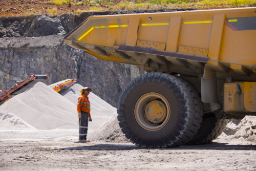
M 153 95 L 169 109 L 156 129 L 145 121 L 142 110 L 143 105 L 152 102 L 146 98 Z M 164 73 L 148 73 L 131 81 L 122 91 L 117 113 L 122 132 L 137 146 L 177 147 L 192 139 L 200 127 L 202 118 L 195 109 L 191 92 L 179 79 Z

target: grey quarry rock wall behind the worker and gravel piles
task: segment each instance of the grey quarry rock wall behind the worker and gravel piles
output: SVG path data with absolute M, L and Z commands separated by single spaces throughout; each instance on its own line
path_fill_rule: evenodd
M 48 85 L 77 78 L 79 84 L 91 87 L 116 107 L 122 89 L 139 70 L 67 46 L 63 36 L 79 24 L 73 19 L 71 15 L 0 18 L 0 88 L 10 89 L 15 81 L 32 74 L 49 74 Z

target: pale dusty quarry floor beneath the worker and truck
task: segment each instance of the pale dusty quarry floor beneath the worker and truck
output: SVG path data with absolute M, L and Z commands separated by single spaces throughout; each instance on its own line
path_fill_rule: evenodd
M 0 130 L 1 170 L 256 170 L 256 145 L 76 143 L 77 130 Z

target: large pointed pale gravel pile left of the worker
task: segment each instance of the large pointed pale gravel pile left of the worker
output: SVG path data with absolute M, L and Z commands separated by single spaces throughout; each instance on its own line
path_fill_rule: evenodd
M 39 130 L 78 129 L 76 105 L 42 82 L 0 106 Z

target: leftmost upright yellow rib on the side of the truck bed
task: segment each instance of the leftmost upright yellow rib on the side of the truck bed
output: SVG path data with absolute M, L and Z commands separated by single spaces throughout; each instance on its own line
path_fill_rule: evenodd
M 126 46 L 136 46 L 140 18 L 131 18 L 126 38 Z

